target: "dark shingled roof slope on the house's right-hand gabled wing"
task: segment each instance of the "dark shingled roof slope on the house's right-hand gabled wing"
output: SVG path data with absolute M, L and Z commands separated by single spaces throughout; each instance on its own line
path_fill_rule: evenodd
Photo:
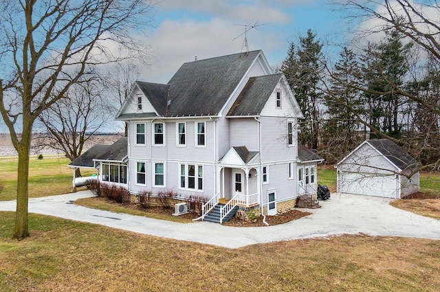
M 228 115 L 259 115 L 283 74 L 252 77 L 248 80 Z

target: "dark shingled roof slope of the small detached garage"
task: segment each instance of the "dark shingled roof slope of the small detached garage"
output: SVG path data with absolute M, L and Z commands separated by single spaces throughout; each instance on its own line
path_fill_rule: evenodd
M 419 166 L 419 162 L 411 157 L 404 149 L 388 139 L 367 140 L 382 155 L 390 159 L 401 170 L 413 170 Z

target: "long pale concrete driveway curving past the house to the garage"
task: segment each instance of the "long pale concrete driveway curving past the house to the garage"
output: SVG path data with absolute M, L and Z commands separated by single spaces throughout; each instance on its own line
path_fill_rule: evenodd
M 313 214 L 282 225 L 228 227 L 216 223 L 173 223 L 142 216 L 94 210 L 74 200 L 93 196 L 89 191 L 29 200 L 29 212 L 105 225 L 140 234 L 189 240 L 228 248 L 298 238 L 364 233 L 440 240 L 440 221 L 399 210 L 390 199 L 355 194 L 332 194 Z M 15 211 L 16 201 L 0 202 L 0 211 Z

